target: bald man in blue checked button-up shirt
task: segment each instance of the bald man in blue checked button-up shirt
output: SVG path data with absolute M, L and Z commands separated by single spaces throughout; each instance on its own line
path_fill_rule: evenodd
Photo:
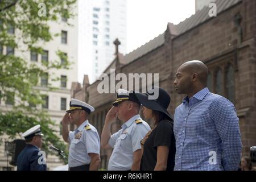
M 237 170 L 242 151 L 234 105 L 210 93 L 208 68 L 188 61 L 177 69 L 178 94 L 187 94 L 174 115 L 175 170 Z

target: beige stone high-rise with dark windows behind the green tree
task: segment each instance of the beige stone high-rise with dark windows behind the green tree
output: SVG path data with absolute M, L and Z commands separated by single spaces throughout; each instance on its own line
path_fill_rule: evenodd
M 45 76 L 41 77 L 39 80 L 39 85 L 34 89 L 40 90 L 40 93 L 44 94 L 45 104 L 42 106 L 34 106 L 35 109 L 39 109 L 43 107 L 48 111 L 49 117 L 51 117 L 52 121 L 55 121 L 56 128 L 55 131 L 57 135 L 59 134 L 60 140 L 63 140 L 61 137 L 61 119 L 63 118 L 65 111 L 69 107 L 69 101 L 71 100 L 71 85 L 72 82 L 77 81 L 77 34 L 78 34 L 78 19 L 77 19 L 77 4 L 74 5 L 72 10 L 73 14 L 76 14 L 72 19 L 65 19 L 59 17 L 57 22 L 48 22 L 50 27 L 50 32 L 52 35 L 60 34 L 60 36 L 54 37 L 50 42 L 39 44 L 44 49 L 42 54 L 36 54 L 34 52 L 23 52 L 20 49 L 26 47 L 22 42 L 18 43 L 18 48 L 13 49 L 13 54 L 15 56 L 23 57 L 23 59 L 27 60 L 27 64 L 41 64 L 42 61 L 61 61 L 57 56 L 57 51 L 63 51 L 68 60 L 71 62 L 71 69 L 59 69 L 59 70 L 48 70 Z M 67 23 L 72 24 L 69 26 Z M 13 31 L 16 34 L 18 31 Z M 8 47 L 3 47 L 2 53 L 5 55 L 8 51 Z M 9 50 L 10 51 L 10 50 Z M 55 77 L 59 77 L 60 80 L 53 81 L 50 79 L 50 75 L 54 75 Z M 49 76 L 49 77 L 48 77 Z M 56 90 L 49 90 L 48 85 L 54 86 L 58 88 Z M 5 112 L 13 109 L 13 105 L 15 103 L 8 103 L 0 100 L 0 110 Z M 20 131 L 22 133 L 24 131 Z M 42 131 L 43 132 L 43 131 Z M 10 138 L 5 136 L 1 136 L 3 142 L 10 142 Z M 17 137 L 18 138 L 18 137 Z M 15 169 L 13 166 L 8 164 L 8 159 L 5 152 L 5 143 L 0 145 L 0 171 L 1 170 L 13 170 Z M 10 157 L 10 156 L 9 156 Z M 10 158 L 9 158 L 10 161 Z M 62 165 L 63 163 L 59 158 L 53 155 L 47 155 L 47 168 L 49 170 Z

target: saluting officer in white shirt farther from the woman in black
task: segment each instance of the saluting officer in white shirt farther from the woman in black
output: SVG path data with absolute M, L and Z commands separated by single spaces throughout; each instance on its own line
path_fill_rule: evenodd
M 70 109 L 62 120 L 62 137 L 70 143 L 69 171 L 94 171 L 100 166 L 100 137 L 98 131 L 88 121 L 88 115 L 94 111 L 93 106 L 71 99 Z M 77 129 L 68 130 L 69 123 Z

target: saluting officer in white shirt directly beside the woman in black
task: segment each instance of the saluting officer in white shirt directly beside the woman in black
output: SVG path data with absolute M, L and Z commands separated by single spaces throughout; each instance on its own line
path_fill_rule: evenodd
M 113 106 L 106 115 L 101 134 L 101 146 L 114 148 L 108 169 L 111 171 L 139 170 L 142 156 L 141 140 L 150 130 L 150 126 L 139 115 L 141 109 L 139 101 L 127 90 L 118 90 L 117 100 Z M 122 129 L 112 135 L 110 128 L 117 118 L 123 122 Z

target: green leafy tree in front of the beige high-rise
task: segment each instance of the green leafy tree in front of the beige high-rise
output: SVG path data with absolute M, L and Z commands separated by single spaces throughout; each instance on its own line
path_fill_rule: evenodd
M 66 155 L 67 148 L 54 130 L 58 126 L 51 121 L 47 110 L 40 107 L 44 100 L 38 86 L 40 77 L 46 72 L 69 69 L 71 63 L 61 50 L 56 52 L 58 60 L 42 63 L 31 63 L 30 58 L 17 56 L 16 52 L 19 55 L 25 52 L 42 55 L 40 45 L 60 35 L 50 32 L 49 22 L 60 21 L 61 17 L 72 19 L 75 3 L 76 0 L 0 0 L 0 100 L 13 104 L 4 109 L 0 107 L 0 135 L 7 134 L 13 139 L 40 124 L 45 134 L 43 150 L 47 152 L 46 146 L 53 144 Z M 60 63 L 60 60 L 64 61 Z M 60 79 L 55 75 L 48 75 L 48 78 L 53 81 Z M 53 89 L 56 88 L 51 85 L 46 88 Z

